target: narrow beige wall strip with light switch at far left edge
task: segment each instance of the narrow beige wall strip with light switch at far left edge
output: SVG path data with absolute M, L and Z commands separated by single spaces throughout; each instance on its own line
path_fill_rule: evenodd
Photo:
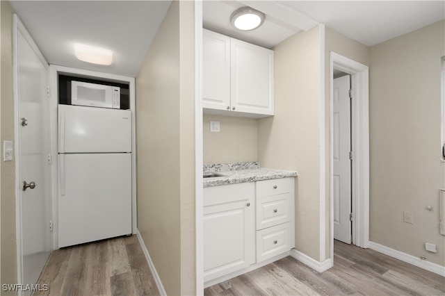
M 1 135 L 14 141 L 13 8 L 0 1 L 1 10 Z M 1 145 L 3 154 L 3 145 Z M 15 162 L 1 162 L 1 283 L 17 283 L 15 238 Z M 1 294 L 3 294 L 2 292 Z M 17 294 L 17 293 L 14 293 Z

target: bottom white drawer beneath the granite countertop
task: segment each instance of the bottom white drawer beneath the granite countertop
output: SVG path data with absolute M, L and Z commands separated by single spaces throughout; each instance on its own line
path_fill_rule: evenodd
M 290 223 L 257 231 L 257 263 L 291 249 Z

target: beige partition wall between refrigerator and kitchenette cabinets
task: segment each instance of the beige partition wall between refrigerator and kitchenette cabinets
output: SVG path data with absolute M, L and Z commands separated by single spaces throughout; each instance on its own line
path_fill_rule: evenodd
M 195 295 L 193 11 L 172 2 L 136 77 L 138 230 L 168 295 Z

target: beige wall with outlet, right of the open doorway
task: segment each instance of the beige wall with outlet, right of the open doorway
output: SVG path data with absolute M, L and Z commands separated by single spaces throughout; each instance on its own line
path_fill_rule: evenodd
M 439 235 L 440 58 L 445 24 L 438 22 L 371 47 L 370 240 L 412 256 L 445 262 Z M 426 206 L 432 206 L 427 211 Z M 414 224 L 403 222 L 403 211 Z M 424 244 L 437 245 L 426 252 Z

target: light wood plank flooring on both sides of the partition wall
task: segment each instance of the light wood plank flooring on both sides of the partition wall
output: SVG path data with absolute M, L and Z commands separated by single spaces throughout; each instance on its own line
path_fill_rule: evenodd
M 159 295 L 136 236 L 54 251 L 33 295 Z M 204 290 L 204 295 L 445 295 L 445 278 L 371 249 L 334 243 L 334 267 L 291 256 Z

